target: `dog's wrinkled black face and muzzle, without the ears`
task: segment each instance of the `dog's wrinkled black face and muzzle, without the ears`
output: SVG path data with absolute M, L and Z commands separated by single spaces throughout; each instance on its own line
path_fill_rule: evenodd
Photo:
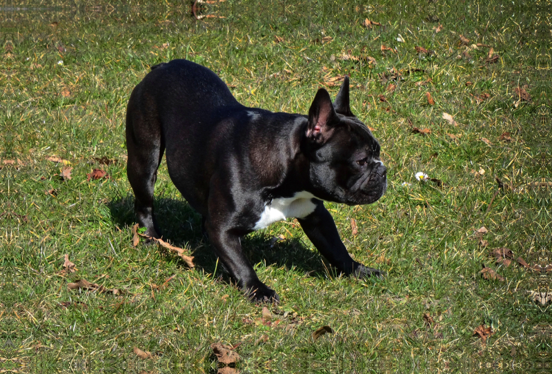
M 331 137 L 308 157 L 311 186 L 324 200 L 371 204 L 387 189 L 380 144 L 356 117 L 337 116 Z

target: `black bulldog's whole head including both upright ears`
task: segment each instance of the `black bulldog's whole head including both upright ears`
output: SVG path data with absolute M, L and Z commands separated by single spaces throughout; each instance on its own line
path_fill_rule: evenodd
M 380 144 L 349 106 L 349 80 L 332 103 L 320 88 L 308 110 L 302 152 L 309 160 L 309 180 L 320 199 L 348 205 L 371 204 L 387 188 Z

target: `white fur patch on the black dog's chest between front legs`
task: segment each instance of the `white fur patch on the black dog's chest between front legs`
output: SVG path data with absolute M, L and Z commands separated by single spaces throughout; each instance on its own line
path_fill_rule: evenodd
M 295 193 L 293 197 L 278 197 L 264 207 L 261 218 L 254 229 L 265 228 L 273 222 L 283 221 L 288 217 L 304 218 L 315 211 L 311 199 L 315 197 L 306 191 Z

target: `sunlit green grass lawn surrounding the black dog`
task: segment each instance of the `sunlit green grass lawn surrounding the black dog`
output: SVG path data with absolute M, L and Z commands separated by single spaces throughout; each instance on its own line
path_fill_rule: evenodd
M 529 186 L 552 180 L 551 45 L 542 12 L 523 1 L 228 0 L 201 13 L 224 18 L 198 21 L 187 2 L 153 3 L 0 8 L 1 370 L 215 373 L 215 342 L 237 345 L 244 373 L 550 364 L 550 304 L 528 291 L 547 292 L 551 273 L 505 267 L 489 255 L 507 247 L 529 264 L 551 264 L 551 188 Z M 366 18 L 382 26 L 368 29 Z M 497 61 L 486 62 L 489 48 L 475 43 L 492 46 Z M 396 50 L 382 52 L 382 44 Z M 263 323 L 262 306 L 217 266 L 199 215 L 164 163 L 159 224 L 193 252 L 197 268 L 155 246 L 132 247 L 126 103 L 148 66 L 184 57 L 217 72 L 243 104 L 273 111 L 306 113 L 320 86 L 337 93 L 329 78 L 351 76 L 353 112 L 380 139 L 389 188 L 370 206 L 326 206 L 355 259 L 386 278 L 336 277 L 297 222 L 273 224 L 242 242 L 259 278 L 282 298 L 270 307 L 281 321 Z M 524 85 L 530 101 L 516 94 Z M 411 124 L 431 134 L 415 134 Z M 511 141 L 500 139 L 504 132 Z M 63 164 L 51 156 L 70 163 L 72 179 L 61 180 Z M 109 179 L 88 181 L 94 168 Z M 415 181 L 418 171 L 444 186 Z M 489 232 L 478 239 L 481 226 Z M 78 270 L 62 275 L 66 254 Z M 482 265 L 504 282 L 483 279 Z M 124 293 L 70 291 L 81 278 Z M 486 344 L 473 336 L 482 324 L 495 331 Z M 313 342 L 324 325 L 334 333 Z M 152 358 L 139 359 L 135 346 Z

